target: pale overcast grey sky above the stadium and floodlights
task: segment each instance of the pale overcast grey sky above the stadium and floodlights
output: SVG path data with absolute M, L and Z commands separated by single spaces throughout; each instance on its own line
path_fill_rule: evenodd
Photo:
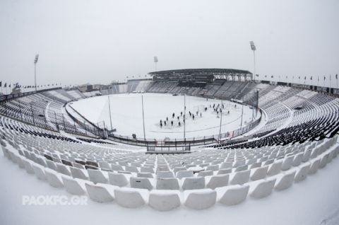
M 144 76 L 154 56 L 158 70 L 253 71 L 250 40 L 261 78 L 339 74 L 338 0 L 1 0 L 0 30 L 0 81 L 23 85 L 36 53 L 38 84 Z

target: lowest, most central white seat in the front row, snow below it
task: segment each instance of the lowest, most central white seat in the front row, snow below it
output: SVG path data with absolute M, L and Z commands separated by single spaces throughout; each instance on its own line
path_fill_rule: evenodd
M 148 199 L 150 207 L 157 211 L 169 211 L 180 206 L 179 191 L 151 190 Z

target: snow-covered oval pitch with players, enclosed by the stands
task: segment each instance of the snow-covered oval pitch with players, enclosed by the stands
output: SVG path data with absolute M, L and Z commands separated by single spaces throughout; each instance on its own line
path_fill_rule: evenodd
M 143 137 L 143 113 L 141 94 L 117 94 L 109 96 L 112 115 L 112 127 L 117 129 L 116 134 Z M 184 96 L 172 96 L 162 93 L 144 93 L 143 104 L 145 113 L 145 135 L 146 138 L 164 139 L 183 138 L 184 125 L 181 113 L 184 113 Z M 221 100 L 186 96 L 186 137 L 203 137 L 219 134 L 220 113 L 213 110 Z M 81 115 L 91 122 L 105 121 L 110 127 L 108 97 L 97 96 L 71 103 Z M 222 113 L 222 133 L 230 132 L 241 126 L 242 105 L 223 101 L 224 110 Z M 237 107 L 234 107 L 237 105 Z M 205 108 L 207 110 L 205 111 Z M 228 113 L 230 111 L 230 113 Z M 195 118 L 189 116 L 194 113 Z M 196 115 L 198 112 L 198 115 Z M 172 119 L 172 113 L 175 114 Z M 201 113 L 201 115 L 200 115 Z M 179 116 L 179 120 L 177 118 Z M 165 125 L 165 120 L 167 120 Z M 162 127 L 160 127 L 162 120 Z M 173 126 L 171 121 L 173 120 Z M 244 106 L 243 125 L 252 120 L 252 110 Z M 181 126 L 179 127 L 179 122 Z

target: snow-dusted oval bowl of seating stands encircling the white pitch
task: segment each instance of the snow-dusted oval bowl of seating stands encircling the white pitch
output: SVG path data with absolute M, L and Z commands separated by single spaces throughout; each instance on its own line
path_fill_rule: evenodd
M 81 123 L 64 107 L 98 94 L 133 91 L 237 100 L 258 93 L 264 117 L 241 138 L 200 146 L 191 154 L 155 155 L 145 154 L 143 146 L 98 139 L 105 129 Z M 72 195 L 127 208 L 207 209 L 216 202 L 267 197 L 325 167 L 339 154 L 338 110 L 335 96 L 290 86 L 220 79 L 203 87 L 129 81 L 100 92 L 57 88 L 8 98 L 1 102 L 0 137 L 6 158 Z

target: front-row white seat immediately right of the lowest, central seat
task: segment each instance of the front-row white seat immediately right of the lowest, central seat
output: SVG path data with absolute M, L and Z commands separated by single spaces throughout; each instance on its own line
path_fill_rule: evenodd
M 191 209 L 208 209 L 215 204 L 217 192 L 211 189 L 185 191 L 186 207 Z

